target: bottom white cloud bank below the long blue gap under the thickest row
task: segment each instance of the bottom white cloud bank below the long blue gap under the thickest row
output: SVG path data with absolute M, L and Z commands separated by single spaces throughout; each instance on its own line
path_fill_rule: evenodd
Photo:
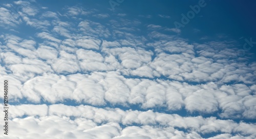
M 181 117 L 152 110 L 141 112 L 86 105 L 23 104 L 10 107 L 11 134 L 8 137 L 11 138 L 202 138 L 201 135 L 214 132 L 221 134 L 212 139 L 256 137 L 255 124 L 214 117 Z M 23 116 L 26 118 L 19 118 Z

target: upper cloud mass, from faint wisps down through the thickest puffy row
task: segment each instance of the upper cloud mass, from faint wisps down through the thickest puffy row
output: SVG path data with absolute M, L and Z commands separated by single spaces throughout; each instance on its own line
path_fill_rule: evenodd
M 15 6 L 16 13 L 8 10 Z M 80 7 L 56 13 L 23 1 L 4 7 L 2 22 L 35 28 L 34 36 L 0 36 L 1 79 L 13 84 L 15 101 L 71 99 L 255 118 L 256 63 L 238 59 L 236 41 L 189 43 L 165 34 L 179 30 L 155 24 L 144 25 L 149 33 L 143 35 L 138 19 L 106 15 L 109 20 L 101 24 L 80 19 L 100 14 Z M 72 22 L 63 20 L 70 16 Z

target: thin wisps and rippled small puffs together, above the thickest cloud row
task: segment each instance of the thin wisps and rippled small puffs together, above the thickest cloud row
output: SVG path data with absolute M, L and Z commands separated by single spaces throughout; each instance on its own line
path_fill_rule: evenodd
M 24 1 L 4 7 L 1 8 L 3 18 L 0 19 L 3 24 L 15 27 L 26 23 L 35 28 L 35 36 L 27 39 L 10 34 L 1 36 L 2 61 L 12 61 L 3 66 L 9 69 L 8 72 L 27 80 L 44 71 L 74 74 L 119 70 L 129 76 L 164 76 L 177 81 L 215 81 L 220 84 L 255 82 L 255 63 L 238 59 L 237 48 L 234 46 L 236 41 L 188 43 L 178 35 L 164 34 L 165 31 L 180 33 L 179 30 L 155 24 L 146 25 L 145 30 L 149 33 L 139 36 L 135 34 L 142 34 L 141 29 L 138 29 L 142 23 L 137 19 L 113 18 L 108 15 L 105 16 L 109 19 L 105 24 L 90 18 L 81 20 L 80 16 L 102 17 L 95 10 L 81 7 L 67 7 L 61 13 Z M 41 14 L 41 18 L 35 18 L 37 14 Z M 73 22 L 62 19 L 71 17 Z M 87 59 L 92 57 L 90 55 L 94 55 L 93 58 Z M 17 56 L 22 59 L 13 63 Z M 33 62 L 24 62 L 27 58 Z M 47 65 L 42 64 L 45 61 Z M 31 66 L 37 68 L 25 70 Z M 17 68 L 23 70 L 17 71 Z

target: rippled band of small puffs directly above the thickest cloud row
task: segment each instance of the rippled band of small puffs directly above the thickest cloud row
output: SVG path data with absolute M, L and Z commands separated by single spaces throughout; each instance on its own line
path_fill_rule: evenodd
M 148 48 L 135 48 L 125 46 L 129 42 L 122 40 L 101 41 L 88 36 L 61 41 L 42 32 L 37 37 L 45 41 L 37 44 L 34 40 L 2 35 L 4 43 L 1 44 L 1 59 L 9 72 L 31 78 L 44 72 L 74 74 L 118 70 L 127 76 L 164 76 L 172 80 L 199 83 L 255 82 L 255 63 L 232 63 L 232 60 L 226 59 L 228 55 L 234 57 L 228 53 L 233 49 L 222 50 L 218 54 L 217 50 L 208 48 L 210 45 L 188 44 L 182 39 L 156 41 L 147 43 L 145 47 Z M 215 45 L 221 45 L 221 42 L 215 42 Z M 31 74 L 27 75 L 26 72 Z

